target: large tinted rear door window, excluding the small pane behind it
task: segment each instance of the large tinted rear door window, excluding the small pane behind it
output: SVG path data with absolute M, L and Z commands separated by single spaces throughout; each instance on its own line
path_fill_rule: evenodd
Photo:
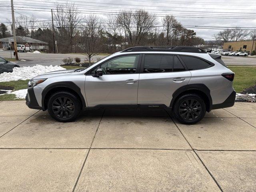
M 172 72 L 173 55 L 145 55 L 144 73 Z

